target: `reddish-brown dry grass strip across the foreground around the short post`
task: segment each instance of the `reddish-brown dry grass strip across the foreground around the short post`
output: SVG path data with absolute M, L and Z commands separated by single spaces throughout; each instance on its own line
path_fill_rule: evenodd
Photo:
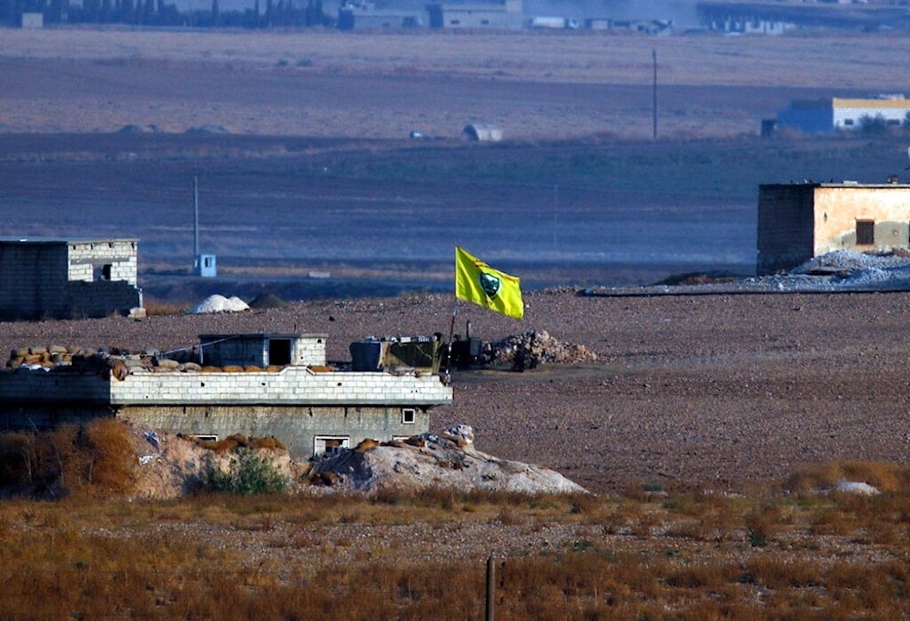
M 910 585 L 906 514 L 894 510 L 908 490 L 889 494 L 7 501 L 0 616 L 480 618 L 490 547 L 468 541 L 508 532 L 513 547 L 496 555 L 502 619 L 797 618 L 810 607 L 813 618 L 894 618 Z M 861 514 L 864 530 L 895 537 L 806 534 L 822 514 Z M 707 516 L 718 536 L 674 530 L 681 515 Z M 759 532 L 767 545 L 748 545 Z

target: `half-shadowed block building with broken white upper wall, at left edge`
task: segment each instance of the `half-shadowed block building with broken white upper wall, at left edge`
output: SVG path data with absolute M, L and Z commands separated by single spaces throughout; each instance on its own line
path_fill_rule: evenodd
M 143 314 L 136 239 L 0 238 L 0 318 Z

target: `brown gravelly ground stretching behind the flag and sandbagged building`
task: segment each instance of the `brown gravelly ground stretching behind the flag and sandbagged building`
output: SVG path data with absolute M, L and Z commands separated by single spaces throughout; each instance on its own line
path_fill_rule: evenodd
M 644 291 L 642 291 L 644 292 Z M 226 291 L 229 296 L 230 292 Z M 907 463 L 910 293 L 525 296 L 524 321 L 459 306 L 485 341 L 531 330 L 598 361 L 453 373 L 455 400 L 431 428 L 465 422 L 480 451 L 541 463 L 593 492 L 641 482 L 740 489 L 805 463 Z M 325 331 L 348 360 L 367 335 L 447 333 L 448 295 L 320 301 L 216 315 L 0 323 L 20 345 L 177 349 L 196 335 Z

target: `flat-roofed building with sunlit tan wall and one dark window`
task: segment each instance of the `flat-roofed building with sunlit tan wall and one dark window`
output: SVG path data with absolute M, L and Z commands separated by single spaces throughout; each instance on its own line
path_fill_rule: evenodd
M 839 249 L 910 249 L 910 185 L 845 181 L 759 187 L 759 274 Z

